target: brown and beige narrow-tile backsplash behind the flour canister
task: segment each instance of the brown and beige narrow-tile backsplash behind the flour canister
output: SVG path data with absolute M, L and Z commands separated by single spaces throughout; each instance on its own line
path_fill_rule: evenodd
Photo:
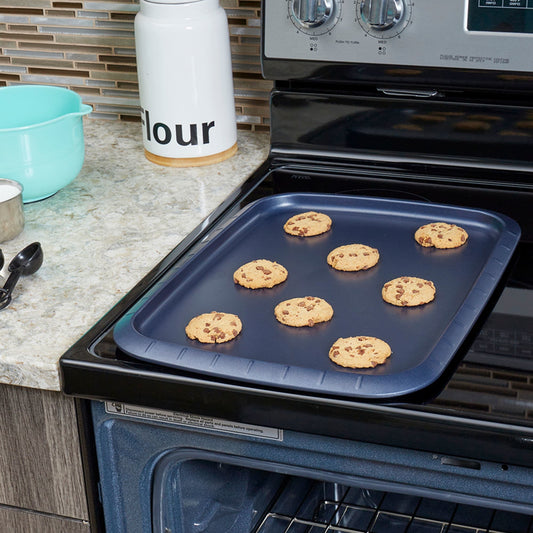
M 221 0 L 228 16 L 238 127 L 269 128 L 261 76 L 260 0 Z M 138 0 L 2 0 L 0 87 L 76 91 L 97 118 L 139 120 L 133 19 Z

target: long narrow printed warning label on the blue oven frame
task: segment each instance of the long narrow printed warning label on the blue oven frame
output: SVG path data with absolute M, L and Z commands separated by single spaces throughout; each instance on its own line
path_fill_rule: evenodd
M 153 422 L 164 422 L 175 426 L 247 435 L 259 439 L 283 440 L 282 429 L 254 426 L 252 424 L 241 424 L 239 422 L 232 422 L 222 418 L 213 418 L 211 416 L 200 416 L 190 413 L 165 411 L 163 409 L 152 409 L 150 407 L 139 407 L 137 405 L 121 402 L 105 402 L 105 410 L 106 413 L 109 414 L 137 418 L 140 420 L 150 420 Z

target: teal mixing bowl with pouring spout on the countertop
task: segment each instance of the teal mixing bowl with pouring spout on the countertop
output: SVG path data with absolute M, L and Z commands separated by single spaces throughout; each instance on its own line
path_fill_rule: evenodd
M 24 203 L 55 194 L 78 175 L 85 156 L 82 116 L 91 111 L 62 87 L 0 89 L 0 178 L 22 185 Z

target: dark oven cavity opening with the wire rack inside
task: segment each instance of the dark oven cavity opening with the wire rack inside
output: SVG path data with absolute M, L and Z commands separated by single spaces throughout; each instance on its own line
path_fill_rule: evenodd
M 465 503 L 193 459 L 155 472 L 153 530 L 175 533 L 527 533 L 533 518 Z M 156 491 L 157 492 L 157 491 Z

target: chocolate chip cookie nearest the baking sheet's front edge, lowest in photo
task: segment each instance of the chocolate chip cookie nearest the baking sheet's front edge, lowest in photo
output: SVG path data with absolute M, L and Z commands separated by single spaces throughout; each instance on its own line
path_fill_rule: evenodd
M 348 368 L 374 368 L 383 364 L 391 353 L 385 341 L 360 335 L 337 339 L 329 350 L 329 358 Z

